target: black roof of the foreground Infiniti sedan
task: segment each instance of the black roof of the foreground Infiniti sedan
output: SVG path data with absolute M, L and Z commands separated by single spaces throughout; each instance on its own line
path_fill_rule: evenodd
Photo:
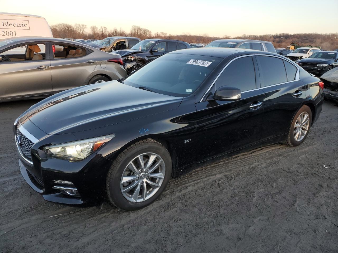
M 269 52 L 264 52 L 264 51 L 251 50 L 251 49 L 241 49 L 241 48 L 189 48 L 189 49 L 181 49 L 177 51 L 172 51 L 172 52 L 169 52 L 168 54 L 193 54 L 193 55 L 226 58 L 236 53 L 242 53 L 243 55 L 245 54 L 276 55 L 275 53 L 269 53 Z

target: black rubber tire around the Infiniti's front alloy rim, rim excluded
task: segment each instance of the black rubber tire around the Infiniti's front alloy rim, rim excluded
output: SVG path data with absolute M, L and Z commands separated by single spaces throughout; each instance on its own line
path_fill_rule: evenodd
M 122 173 L 124 172 L 125 167 L 131 161 L 131 159 L 135 158 L 139 154 L 148 153 L 148 152 L 159 154 L 162 157 L 164 164 L 165 164 L 164 180 L 162 182 L 160 189 L 154 194 L 154 196 L 139 203 L 131 202 L 122 195 L 122 192 L 120 189 L 120 181 L 121 181 Z M 150 205 L 161 195 L 161 193 L 167 187 L 168 182 L 170 180 L 170 176 L 171 176 L 171 170 L 172 170 L 171 157 L 169 155 L 169 152 L 164 146 L 158 145 L 155 143 L 147 143 L 147 144 L 142 144 L 140 146 L 137 146 L 136 148 L 132 149 L 132 151 L 128 152 L 122 158 L 118 166 L 115 168 L 112 178 L 111 179 L 107 178 L 107 180 L 110 180 L 109 191 L 110 191 L 110 196 L 112 198 L 113 204 L 121 209 L 130 210 L 130 211 L 141 209 L 147 205 Z

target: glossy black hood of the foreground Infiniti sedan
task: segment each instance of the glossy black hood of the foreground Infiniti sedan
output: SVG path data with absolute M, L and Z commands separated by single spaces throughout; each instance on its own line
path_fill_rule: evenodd
M 66 134 L 172 110 L 182 99 L 111 81 L 57 93 L 30 107 L 27 116 L 46 134 Z

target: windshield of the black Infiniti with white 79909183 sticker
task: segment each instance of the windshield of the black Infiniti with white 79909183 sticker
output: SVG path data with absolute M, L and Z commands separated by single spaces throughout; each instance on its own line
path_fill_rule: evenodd
M 221 60 L 191 54 L 165 54 L 126 77 L 123 83 L 137 88 L 143 86 L 161 94 L 188 96 Z

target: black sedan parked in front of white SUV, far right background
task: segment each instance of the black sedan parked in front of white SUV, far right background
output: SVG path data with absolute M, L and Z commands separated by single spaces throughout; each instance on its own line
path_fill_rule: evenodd
M 338 66 L 338 53 L 335 51 L 320 51 L 308 58 L 299 60 L 297 64 L 309 73 L 322 75 Z

